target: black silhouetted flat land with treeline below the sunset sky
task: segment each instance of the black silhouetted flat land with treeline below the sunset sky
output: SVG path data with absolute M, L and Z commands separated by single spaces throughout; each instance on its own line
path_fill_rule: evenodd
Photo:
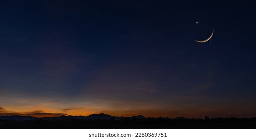
M 256 129 L 256 118 L 0 120 L 0 129 Z

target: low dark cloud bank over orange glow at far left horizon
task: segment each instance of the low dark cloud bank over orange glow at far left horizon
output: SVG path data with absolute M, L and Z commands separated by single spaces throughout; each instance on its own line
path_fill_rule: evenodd
M 44 112 L 43 110 L 36 110 L 31 112 L 13 112 L 13 111 L 8 111 L 3 107 L 0 107 L 0 116 L 9 116 L 9 115 L 34 116 L 34 117 L 59 117 L 67 114 L 66 113 L 47 113 L 47 112 Z

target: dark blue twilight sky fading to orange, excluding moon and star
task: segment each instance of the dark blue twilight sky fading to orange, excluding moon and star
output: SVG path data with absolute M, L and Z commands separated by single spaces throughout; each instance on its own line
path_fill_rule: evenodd
M 0 115 L 93 113 L 256 116 L 256 2 L 1 0 Z

